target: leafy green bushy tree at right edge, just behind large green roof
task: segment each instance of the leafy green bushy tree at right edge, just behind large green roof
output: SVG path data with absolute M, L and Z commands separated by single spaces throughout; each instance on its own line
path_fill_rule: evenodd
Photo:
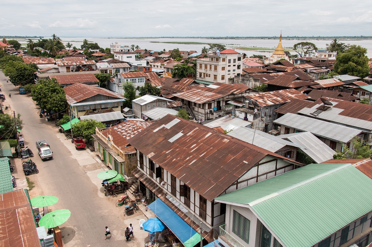
M 369 144 L 365 141 L 361 141 L 359 137 L 354 136 L 351 141 L 353 149 L 350 150 L 347 146 L 344 146 L 344 151 L 336 151 L 333 155 L 334 159 L 366 159 L 371 158 L 372 149 Z

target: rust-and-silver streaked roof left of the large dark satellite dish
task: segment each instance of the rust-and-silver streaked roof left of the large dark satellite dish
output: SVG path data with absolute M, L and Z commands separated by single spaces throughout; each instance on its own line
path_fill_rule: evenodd
M 255 93 L 246 95 L 246 98 L 256 100 L 261 106 L 275 105 L 279 103 L 286 103 L 295 99 L 307 99 L 307 95 L 289 88 L 278 91 Z

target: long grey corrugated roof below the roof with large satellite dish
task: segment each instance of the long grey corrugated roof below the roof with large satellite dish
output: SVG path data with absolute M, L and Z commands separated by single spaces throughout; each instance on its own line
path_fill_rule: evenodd
M 325 122 L 293 113 L 287 113 L 273 122 L 289 128 L 297 129 L 299 131 L 308 131 L 313 135 L 343 143 L 349 142 L 354 136 L 362 133 L 360 130 L 347 126 Z

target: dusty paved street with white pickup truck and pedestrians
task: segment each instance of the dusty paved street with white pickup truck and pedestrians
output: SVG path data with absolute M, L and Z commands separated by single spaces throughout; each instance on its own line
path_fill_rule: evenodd
M 144 218 L 140 213 L 130 217 L 124 216 L 124 207 L 115 207 L 117 198 L 104 197 L 96 178 L 102 166 L 85 150 L 75 150 L 70 140 L 58 132 L 54 122 L 39 118 L 39 108 L 35 106 L 29 95 L 19 95 L 12 83 L 6 83 L 6 77 L 0 73 L 0 86 L 6 95 L 4 105 L 12 105 L 10 109 L 20 113 L 23 119 L 23 134 L 26 146 L 37 154 L 35 141 L 47 139 L 54 152 L 54 158 L 41 161 L 35 156 L 33 161 L 38 166 L 39 174 L 31 175 L 38 188 L 34 190 L 44 195 L 59 198 L 52 210 L 66 208 L 71 211 L 70 219 L 61 225 L 62 236 L 66 246 L 144 246 L 144 237 L 125 243 L 124 226 L 133 223 L 135 232 L 140 233 L 138 221 Z M 9 93 L 12 98 L 9 99 Z M 10 113 L 10 111 L 8 113 Z M 35 192 L 34 192 L 35 193 Z M 49 208 L 49 210 L 50 210 Z M 146 218 L 145 218 L 146 219 Z M 104 227 L 108 226 L 112 237 L 104 240 Z M 138 228 L 138 230 L 136 229 Z

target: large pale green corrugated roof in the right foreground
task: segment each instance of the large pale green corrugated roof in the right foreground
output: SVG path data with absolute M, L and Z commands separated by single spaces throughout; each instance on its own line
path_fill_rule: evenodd
M 372 180 L 351 164 L 310 164 L 216 201 L 248 204 L 285 246 L 309 247 L 371 212 L 367 191 Z

